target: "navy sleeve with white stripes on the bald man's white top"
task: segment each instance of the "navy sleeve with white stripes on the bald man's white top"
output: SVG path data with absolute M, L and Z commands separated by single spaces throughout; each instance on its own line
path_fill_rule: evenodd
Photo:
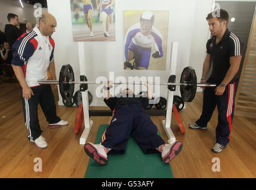
M 14 45 L 12 45 L 12 50 L 14 50 L 12 55 L 12 65 L 26 65 L 29 58 L 37 49 L 38 42 L 36 39 L 34 39 L 36 36 L 36 32 L 31 31 L 30 33 L 24 33 L 16 40 Z

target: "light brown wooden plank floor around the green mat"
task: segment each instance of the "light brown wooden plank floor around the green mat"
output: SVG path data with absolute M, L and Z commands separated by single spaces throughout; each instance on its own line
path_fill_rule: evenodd
M 56 91 L 55 91 L 55 94 Z M 57 97 L 58 99 L 58 97 Z M 176 139 L 183 141 L 181 153 L 170 162 L 175 178 L 255 178 L 256 177 L 256 119 L 235 116 L 231 141 L 222 153 L 210 151 L 215 143 L 217 112 L 207 130 L 189 129 L 201 113 L 202 93 L 197 93 L 192 103 L 186 103 L 180 112 L 185 134 L 179 131 L 174 116 L 172 128 Z M 101 107 L 103 108 L 103 107 Z M 91 109 L 101 109 L 91 107 Z M 49 129 L 39 108 L 39 122 L 48 147 L 39 149 L 30 143 L 24 126 L 18 83 L 0 82 L 0 178 L 83 178 L 89 157 L 79 144 L 79 134 L 74 133 L 77 107 L 57 106 L 58 115 L 69 122 L 68 126 Z M 94 142 L 100 124 L 108 124 L 110 117 L 91 117 L 93 127 L 87 141 Z M 162 128 L 162 116 L 151 117 L 166 140 Z M 160 155 L 159 155 L 160 156 Z M 220 160 L 220 172 L 213 172 L 212 160 Z M 34 166 L 42 159 L 42 172 L 34 172 Z M 35 162 L 34 162 L 35 161 Z

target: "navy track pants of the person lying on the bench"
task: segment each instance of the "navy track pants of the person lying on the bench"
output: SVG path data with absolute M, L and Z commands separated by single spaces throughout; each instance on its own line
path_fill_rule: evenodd
M 146 154 L 157 153 L 156 148 L 165 144 L 150 116 L 136 104 L 124 105 L 115 110 L 110 125 L 102 135 L 102 145 L 112 148 L 109 153 L 124 153 L 130 135 Z

